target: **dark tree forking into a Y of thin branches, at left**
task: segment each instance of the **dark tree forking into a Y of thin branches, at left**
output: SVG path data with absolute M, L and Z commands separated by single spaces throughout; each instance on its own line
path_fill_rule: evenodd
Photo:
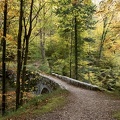
M 28 60 L 28 52 L 29 52 L 29 41 L 31 37 L 31 33 L 33 29 L 36 27 L 36 22 L 39 12 L 42 9 L 42 6 L 39 6 L 36 8 L 36 11 L 34 12 L 35 7 L 35 0 L 30 1 L 30 9 L 27 11 L 27 7 L 24 7 L 24 9 L 27 11 L 27 14 L 24 10 L 24 16 L 23 16 L 23 23 L 24 23 L 24 37 L 23 37 L 23 48 L 22 48 L 22 83 L 21 83 L 21 98 L 20 98 L 20 104 L 23 104 L 23 96 L 25 92 L 25 76 L 26 76 L 26 68 L 27 68 L 27 60 Z M 28 16 L 26 16 L 28 15 Z

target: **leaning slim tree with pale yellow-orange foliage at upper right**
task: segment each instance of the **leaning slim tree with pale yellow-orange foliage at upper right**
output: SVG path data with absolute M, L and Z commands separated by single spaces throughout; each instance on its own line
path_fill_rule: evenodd
M 100 42 L 100 47 L 99 47 L 99 52 L 98 52 L 98 59 L 100 60 L 102 57 L 102 53 L 105 50 L 106 43 L 108 44 L 109 42 L 115 41 L 115 37 L 118 37 L 119 33 L 115 33 L 114 31 L 117 30 L 115 27 L 115 24 L 119 26 L 118 19 L 119 16 L 118 13 L 118 4 L 119 1 L 117 0 L 106 0 L 106 1 L 101 1 L 100 2 L 100 8 L 99 11 L 97 12 L 97 15 L 100 15 L 100 21 L 103 23 L 102 27 L 102 35 L 101 35 L 101 42 Z M 116 22 L 116 23 L 115 23 Z M 117 27 L 119 29 L 119 27 Z M 113 32 L 113 33 L 111 33 Z M 109 46 L 109 45 L 108 45 Z M 108 47 L 109 49 L 110 46 Z M 107 48 L 107 49 L 108 49 Z

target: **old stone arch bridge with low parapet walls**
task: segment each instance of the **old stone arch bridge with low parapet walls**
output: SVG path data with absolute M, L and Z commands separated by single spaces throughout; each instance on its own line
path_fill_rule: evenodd
M 96 85 L 92 85 L 92 84 L 85 83 L 85 82 L 80 82 L 78 80 L 75 80 L 75 79 L 72 79 L 66 76 L 58 75 L 55 73 L 53 73 L 52 75 L 55 76 L 56 79 L 59 78 L 67 82 L 68 84 L 74 85 L 76 87 L 82 87 L 82 88 L 89 89 L 89 90 L 100 90 L 100 88 Z M 53 77 L 50 77 L 50 75 L 40 74 L 40 76 L 41 76 L 41 80 L 36 85 L 37 90 L 34 92 L 36 95 L 52 92 L 58 87 L 62 88 L 62 85 L 58 83 L 55 79 L 53 79 Z

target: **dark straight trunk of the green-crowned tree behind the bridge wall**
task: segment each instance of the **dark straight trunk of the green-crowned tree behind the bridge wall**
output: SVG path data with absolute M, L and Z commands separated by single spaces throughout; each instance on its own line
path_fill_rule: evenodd
M 75 16 L 75 79 L 78 79 L 78 37 L 77 37 L 77 17 Z

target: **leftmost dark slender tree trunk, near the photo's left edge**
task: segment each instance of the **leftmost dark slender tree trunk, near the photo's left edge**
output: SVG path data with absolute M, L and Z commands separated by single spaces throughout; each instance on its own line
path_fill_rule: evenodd
M 4 5 L 3 54 L 2 54 L 2 115 L 6 109 L 6 34 L 7 34 L 7 0 Z

